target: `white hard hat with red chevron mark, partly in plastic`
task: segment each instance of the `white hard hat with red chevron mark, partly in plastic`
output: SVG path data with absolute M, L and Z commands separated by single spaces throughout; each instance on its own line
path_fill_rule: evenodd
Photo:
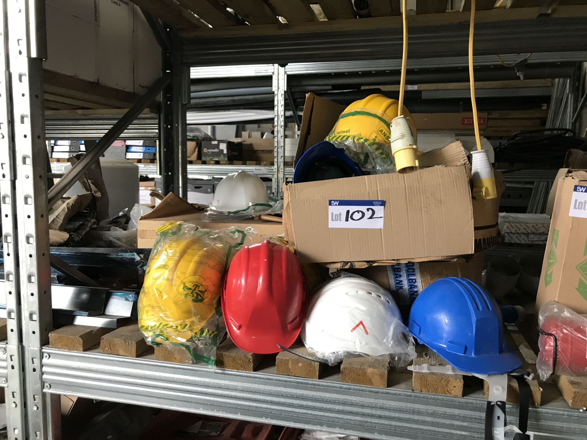
M 330 363 L 351 353 L 394 354 L 397 364 L 416 355 L 393 297 L 363 277 L 342 276 L 323 285 L 310 301 L 301 336 Z

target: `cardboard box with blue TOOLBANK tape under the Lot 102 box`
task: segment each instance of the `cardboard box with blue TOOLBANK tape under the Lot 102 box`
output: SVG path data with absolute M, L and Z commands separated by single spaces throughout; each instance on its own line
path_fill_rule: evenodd
M 345 269 L 345 271 L 375 281 L 383 289 L 392 293 L 399 306 L 409 306 L 426 286 L 440 278 L 458 276 L 468 278 L 480 285 L 483 252 L 475 254 L 468 262 L 409 262 L 369 266 L 363 269 Z

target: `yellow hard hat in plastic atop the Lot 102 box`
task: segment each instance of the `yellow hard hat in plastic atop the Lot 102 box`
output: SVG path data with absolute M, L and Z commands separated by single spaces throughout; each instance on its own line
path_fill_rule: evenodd
M 397 100 L 382 94 L 355 101 L 340 114 L 325 140 L 345 148 L 346 154 L 360 165 L 375 167 L 380 173 L 394 171 L 389 126 L 398 114 L 398 106 Z M 416 135 L 416 124 L 406 107 L 403 115 Z

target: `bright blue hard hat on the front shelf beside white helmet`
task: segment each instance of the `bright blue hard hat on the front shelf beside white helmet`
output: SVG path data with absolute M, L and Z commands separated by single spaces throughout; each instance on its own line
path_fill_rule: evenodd
M 442 278 L 422 290 L 411 306 L 408 328 L 461 371 L 504 374 L 522 365 L 505 342 L 500 307 L 468 279 Z

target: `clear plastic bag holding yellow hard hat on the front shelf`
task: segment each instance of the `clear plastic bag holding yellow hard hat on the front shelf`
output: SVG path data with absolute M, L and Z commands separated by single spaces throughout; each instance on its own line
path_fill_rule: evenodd
M 139 296 L 139 329 L 147 343 L 184 347 L 194 362 L 215 365 L 224 336 L 222 276 L 255 231 L 212 231 L 183 222 L 157 229 Z

